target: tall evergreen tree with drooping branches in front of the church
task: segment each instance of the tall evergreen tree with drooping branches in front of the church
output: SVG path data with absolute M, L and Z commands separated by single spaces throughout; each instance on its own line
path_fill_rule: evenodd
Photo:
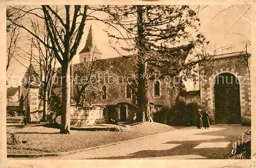
M 109 36 L 122 44 L 121 49 L 137 54 L 137 120 L 152 121 L 148 78 L 157 71 L 170 77 L 185 71 L 186 77 L 205 59 L 198 54 L 196 60 L 185 62 L 187 55 L 206 41 L 198 32 L 197 13 L 189 6 L 101 6 L 100 10 L 109 14 L 105 22 L 118 32 L 109 31 Z

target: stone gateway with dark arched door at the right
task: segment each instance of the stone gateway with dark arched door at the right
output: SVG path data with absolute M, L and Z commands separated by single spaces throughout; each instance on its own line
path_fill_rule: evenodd
M 201 105 L 209 109 L 211 120 L 215 124 L 250 122 L 250 54 L 215 55 L 200 67 Z

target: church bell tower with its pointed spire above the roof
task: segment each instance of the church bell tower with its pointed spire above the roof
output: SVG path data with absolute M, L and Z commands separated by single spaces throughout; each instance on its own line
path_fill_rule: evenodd
M 83 49 L 79 52 L 79 61 L 80 63 L 83 62 L 89 62 L 96 59 L 101 59 L 102 53 L 97 47 L 97 44 L 95 43 L 94 34 L 92 30 L 92 24 L 90 26 L 86 45 L 83 47 Z

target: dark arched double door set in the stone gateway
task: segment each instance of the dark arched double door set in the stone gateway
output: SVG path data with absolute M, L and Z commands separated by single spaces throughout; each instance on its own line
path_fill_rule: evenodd
M 215 80 L 215 123 L 241 124 L 239 81 L 231 73 L 219 74 Z

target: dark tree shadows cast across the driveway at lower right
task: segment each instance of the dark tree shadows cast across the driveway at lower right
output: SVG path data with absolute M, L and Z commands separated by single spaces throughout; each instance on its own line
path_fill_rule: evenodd
M 217 126 L 218 127 L 218 126 Z M 220 127 L 223 128 L 223 127 Z M 177 147 L 168 150 L 142 150 L 135 153 L 129 153 L 125 156 L 117 157 L 103 157 L 103 158 L 90 158 L 90 159 L 137 159 L 137 158 L 147 158 L 147 157 L 168 157 L 168 156 L 178 156 L 178 155 L 200 155 L 206 157 L 205 159 L 228 159 L 231 155 L 232 145 L 234 142 L 241 139 L 242 133 L 248 131 L 249 127 L 236 127 L 227 126 L 227 129 L 222 129 L 213 132 L 203 132 L 197 135 L 216 135 L 216 136 L 226 136 L 225 138 L 215 138 L 197 141 L 170 141 L 164 144 L 180 144 Z M 236 130 L 236 131 L 234 131 Z M 248 136 L 244 137 L 246 141 Z M 213 142 L 230 142 L 226 148 L 201 148 L 194 149 L 201 143 L 213 143 Z M 150 144 L 149 144 L 150 145 Z M 203 159 L 203 158 L 202 158 Z

